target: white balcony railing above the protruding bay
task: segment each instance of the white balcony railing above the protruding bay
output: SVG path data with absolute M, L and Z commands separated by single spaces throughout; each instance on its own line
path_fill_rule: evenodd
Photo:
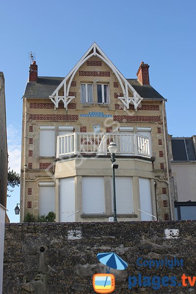
M 127 133 L 71 133 L 58 136 L 56 157 L 76 154 L 107 155 L 110 142 L 117 144 L 117 155 L 150 157 L 149 139 Z

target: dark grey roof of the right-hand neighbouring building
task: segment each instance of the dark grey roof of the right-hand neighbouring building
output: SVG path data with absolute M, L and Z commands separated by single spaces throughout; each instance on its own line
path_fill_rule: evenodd
M 196 152 L 192 138 L 172 138 L 173 161 L 196 160 Z

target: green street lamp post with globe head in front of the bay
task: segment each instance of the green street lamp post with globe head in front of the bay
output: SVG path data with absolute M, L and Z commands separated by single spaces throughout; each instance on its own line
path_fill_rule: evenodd
M 116 212 L 116 186 L 115 186 L 115 169 L 118 169 L 118 164 L 114 164 L 116 161 L 115 153 L 117 151 L 117 145 L 114 142 L 110 142 L 108 146 L 108 150 L 111 154 L 111 162 L 112 162 L 112 171 L 113 171 L 113 202 L 114 202 L 114 221 L 117 221 L 117 212 Z

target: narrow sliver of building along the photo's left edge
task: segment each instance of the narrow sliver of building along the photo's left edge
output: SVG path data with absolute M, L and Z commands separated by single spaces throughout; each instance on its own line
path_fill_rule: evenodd
M 6 218 L 8 166 L 4 84 L 4 75 L 2 72 L 0 72 L 0 294 L 2 293 L 4 226 Z

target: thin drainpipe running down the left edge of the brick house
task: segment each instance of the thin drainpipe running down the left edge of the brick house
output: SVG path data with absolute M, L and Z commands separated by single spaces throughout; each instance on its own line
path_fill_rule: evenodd
M 25 218 L 25 188 L 26 188 L 26 121 L 27 121 L 27 111 L 26 111 L 26 98 L 25 98 L 25 122 L 24 122 L 24 167 L 23 167 L 23 219 Z

